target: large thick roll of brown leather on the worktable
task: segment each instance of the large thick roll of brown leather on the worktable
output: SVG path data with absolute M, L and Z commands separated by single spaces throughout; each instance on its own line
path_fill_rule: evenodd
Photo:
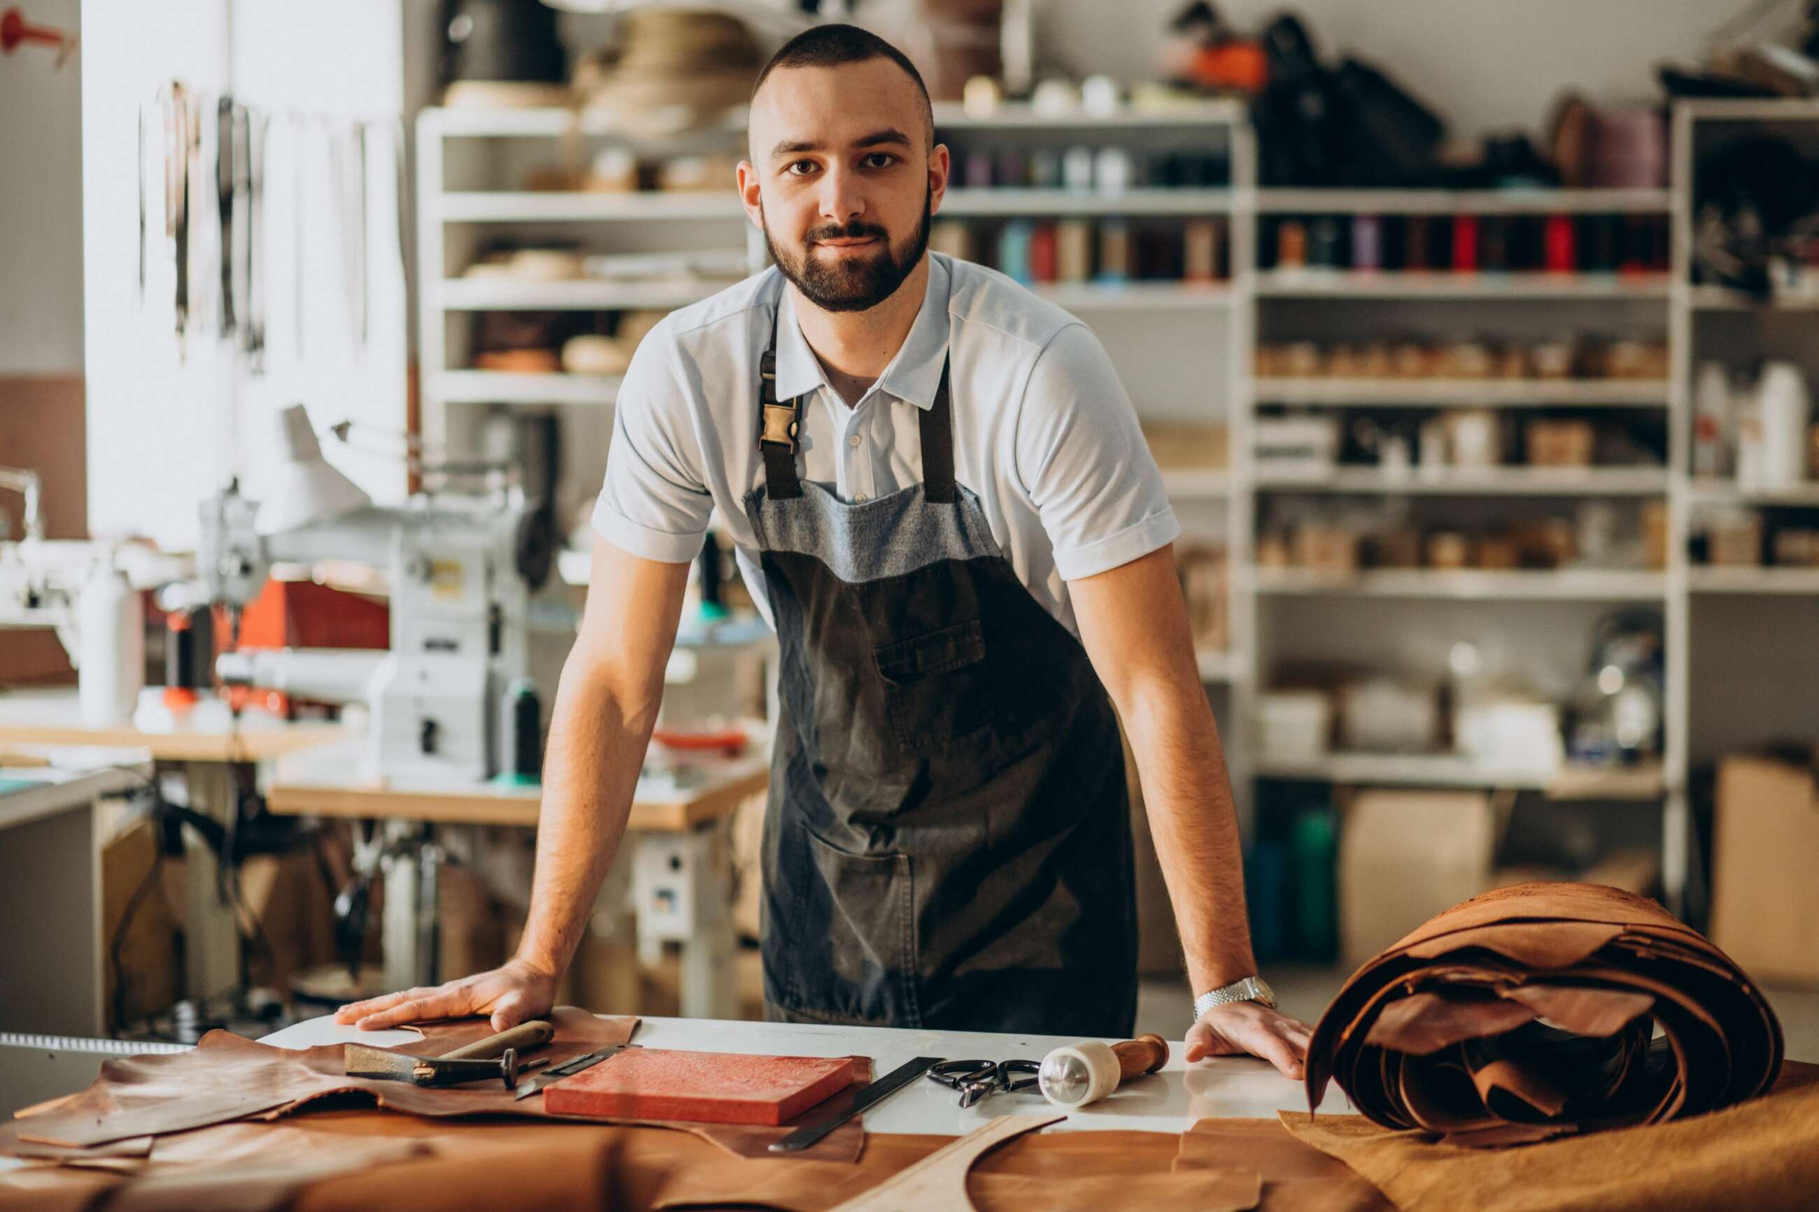
M 1372 1121 L 1459 1145 L 1661 1123 L 1768 1090 L 1781 1023 L 1730 958 L 1650 899 L 1523 883 L 1370 959 L 1308 1045 Z

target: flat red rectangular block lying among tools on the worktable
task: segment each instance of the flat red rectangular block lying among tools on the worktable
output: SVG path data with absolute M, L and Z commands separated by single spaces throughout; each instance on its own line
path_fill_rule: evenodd
M 553 1116 L 784 1123 L 853 1083 L 864 1058 L 626 1048 L 544 1087 Z

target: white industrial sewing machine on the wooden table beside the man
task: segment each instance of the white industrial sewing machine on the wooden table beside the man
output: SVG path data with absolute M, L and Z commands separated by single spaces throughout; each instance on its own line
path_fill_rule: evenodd
M 533 672 L 528 611 L 551 567 L 553 529 L 517 489 L 420 494 L 378 507 L 326 460 L 302 407 L 284 414 L 289 462 L 264 503 L 238 485 L 202 507 L 196 567 L 207 601 L 236 612 L 275 563 L 386 569 L 391 649 L 224 651 L 229 685 L 366 703 L 373 772 L 484 780 L 509 765 L 502 698 Z

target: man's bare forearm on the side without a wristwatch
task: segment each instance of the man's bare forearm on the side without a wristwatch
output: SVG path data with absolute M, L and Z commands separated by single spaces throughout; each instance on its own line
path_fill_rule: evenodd
M 518 959 L 560 974 L 575 956 L 600 879 L 626 836 L 660 696 L 660 685 L 628 690 L 613 678 L 589 674 L 578 656 L 562 669 Z

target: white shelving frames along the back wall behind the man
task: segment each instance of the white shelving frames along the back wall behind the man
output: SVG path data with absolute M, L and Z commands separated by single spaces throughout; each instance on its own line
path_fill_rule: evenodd
M 1182 503 L 1222 507 L 1231 560 L 1231 649 L 1199 654 L 1208 683 L 1226 685 L 1231 712 L 1228 754 L 1241 803 L 1250 803 L 1251 774 L 1322 778 L 1359 783 L 1523 787 L 1553 790 L 1539 776 L 1517 778 L 1450 756 L 1381 758 L 1337 754 L 1311 767 L 1257 763 L 1253 752 L 1255 696 L 1259 678 L 1259 609 L 1281 598 L 1332 598 L 1333 609 L 1352 598 L 1410 601 L 1657 601 L 1668 623 L 1668 743 L 1659 769 L 1635 776 L 1624 787 L 1641 798 L 1663 801 L 1663 879 L 1670 901 L 1686 883 L 1688 814 L 1684 801 L 1688 754 L 1688 603 L 1693 594 L 1819 594 L 1819 571 L 1797 569 L 1692 569 L 1686 565 L 1688 511 L 1695 503 L 1743 502 L 1728 485 L 1695 483 L 1690 474 L 1690 382 L 1692 325 L 1708 313 L 1761 309 L 1728 291 L 1690 285 L 1690 149 L 1692 122 L 1819 124 L 1819 107 L 1806 102 L 1701 102 L 1679 105 L 1673 120 L 1675 176 L 1670 189 L 1641 191 L 1357 191 L 1357 189 L 1259 189 L 1257 151 L 1242 105 L 1206 104 L 1186 109 L 1121 111 L 1110 116 L 1084 113 L 1040 114 L 1028 107 L 1004 107 L 990 116 L 971 116 L 951 105 L 937 107 L 937 127 L 957 134 L 1015 140 L 1031 136 L 1106 144 L 1124 136 L 1168 138 L 1190 131 L 1195 140 L 1226 140 L 1231 149 L 1231 180 L 1219 189 L 1133 189 L 1121 194 L 1070 191 L 979 191 L 953 189 L 944 218 L 995 218 L 1013 214 L 1122 216 L 1122 214 L 1211 214 L 1228 222 L 1231 276 L 1217 285 L 1135 282 L 1050 283 L 1040 293 L 1088 320 L 1100 313 L 1146 311 L 1204 314 L 1210 340 L 1230 342 L 1228 373 L 1210 383 L 1208 418 L 1228 422 L 1231 465 L 1206 471 L 1170 471 L 1166 487 Z M 497 278 L 460 278 L 460 265 L 447 260 L 451 229 L 497 233 L 509 225 L 620 224 L 628 231 L 657 231 L 658 224 L 689 225 L 689 240 L 711 224 L 726 224 L 728 242 L 748 240 L 744 211 L 731 191 L 724 194 L 593 194 L 446 189 L 444 147 L 449 140 L 504 138 L 615 138 L 604 116 L 573 111 L 426 111 L 418 124 L 418 249 L 420 349 L 424 429 L 442 438 L 444 411 L 466 403 L 568 403 L 609 405 L 617 392 L 613 376 L 504 374 L 447 365 L 447 318 L 480 309 L 668 309 L 709 294 L 713 283 L 624 283 L 549 282 L 517 283 Z M 729 134 L 728 133 L 722 133 Z M 1333 273 L 1259 271 L 1257 222 L 1262 214 L 1670 214 L 1673 271 L 1670 274 L 1539 274 L 1539 273 Z M 737 234 L 735 234 L 737 233 Z M 748 247 L 751 247 L 748 240 Z M 1486 322 L 1495 307 L 1533 318 L 1537 307 L 1564 303 L 1575 316 L 1610 305 L 1624 322 L 1655 314 L 1661 307 L 1668 329 L 1672 374 L 1668 380 L 1288 380 L 1253 376 L 1259 311 L 1277 305 L 1306 314 L 1297 300 L 1344 303 L 1361 309 L 1386 305 L 1406 325 L 1412 307 L 1457 309 L 1470 305 Z M 1819 300 L 1777 300 L 1775 311 L 1819 309 Z M 1284 313 L 1288 314 L 1288 313 Z M 1444 314 L 1444 313 L 1441 313 Z M 1575 320 L 1579 323 L 1583 320 Z M 1217 336 L 1215 336 L 1217 334 Z M 1271 333 L 1271 336 L 1275 336 Z M 1113 351 L 1115 354 L 1115 351 Z M 1224 407 L 1221 409 L 1222 396 Z M 1344 469 L 1319 483 L 1288 483 L 1259 474 L 1250 456 L 1251 423 L 1259 407 L 1570 407 L 1657 409 L 1670 431 L 1668 467 L 1599 467 L 1579 472 L 1497 469 L 1457 472 L 1428 482 L 1419 476 L 1388 480 L 1372 469 Z M 1564 569 L 1557 572 L 1441 572 L 1372 571 L 1352 578 L 1322 578 L 1297 569 L 1253 569 L 1259 498 L 1277 492 L 1361 494 L 1459 494 L 1484 498 L 1523 496 L 1661 496 L 1670 503 L 1668 567 L 1659 572 Z M 1819 491 L 1815 491 L 1819 492 Z M 1792 498 L 1757 503 L 1810 503 L 1804 489 Z M 1322 607 L 1324 609 L 1324 607 Z M 1406 614 L 1419 625 L 1417 611 Z M 1592 780 L 1592 774 L 1584 774 Z M 1584 780 L 1581 780 L 1584 781 Z M 1615 783 L 1593 789 L 1615 796 Z

